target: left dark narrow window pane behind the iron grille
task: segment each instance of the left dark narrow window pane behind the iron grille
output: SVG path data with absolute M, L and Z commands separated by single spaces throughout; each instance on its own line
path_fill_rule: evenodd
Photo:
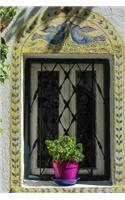
M 38 167 L 50 167 L 45 140 L 58 137 L 59 73 L 42 71 L 38 73 Z

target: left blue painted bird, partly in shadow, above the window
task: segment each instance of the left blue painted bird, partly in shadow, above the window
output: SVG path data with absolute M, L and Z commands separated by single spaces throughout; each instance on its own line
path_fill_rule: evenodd
M 46 34 L 44 35 L 44 39 L 53 45 L 59 44 L 65 39 L 65 25 L 59 24 L 57 26 L 49 26 L 42 30 Z

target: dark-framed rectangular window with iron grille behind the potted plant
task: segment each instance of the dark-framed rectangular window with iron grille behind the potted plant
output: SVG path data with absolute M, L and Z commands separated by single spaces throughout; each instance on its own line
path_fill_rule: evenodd
M 50 180 L 45 140 L 83 143 L 81 180 L 110 178 L 109 63 L 103 59 L 26 59 L 25 178 Z

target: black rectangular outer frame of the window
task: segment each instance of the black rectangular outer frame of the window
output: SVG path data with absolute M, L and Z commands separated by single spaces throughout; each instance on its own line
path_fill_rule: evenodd
M 109 60 L 107 59 L 70 59 L 70 58 L 65 58 L 65 59 L 60 59 L 60 58 L 27 58 L 25 61 L 25 84 L 24 84 L 24 140 L 25 140 L 25 145 L 24 145 L 24 178 L 25 179 L 39 179 L 40 176 L 37 175 L 32 175 L 31 174 L 31 168 L 30 166 L 30 160 L 28 157 L 28 153 L 30 152 L 30 140 L 29 140 L 29 126 L 30 126 L 30 114 L 29 114 L 29 109 L 30 105 L 28 102 L 30 102 L 30 84 L 31 84 L 31 65 L 33 63 L 41 63 L 41 62 L 60 62 L 60 63 L 95 63 L 95 64 L 103 64 L 104 65 L 104 96 L 106 97 L 106 106 L 104 107 L 104 113 L 108 113 L 105 115 L 105 126 L 104 126 L 104 147 L 106 146 L 105 152 L 108 154 L 110 152 L 110 68 L 109 68 Z M 28 77 L 28 79 L 27 79 Z M 108 118 L 106 117 L 108 116 Z M 27 121 L 27 123 L 26 123 Z M 28 132 L 28 134 L 26 134 Z M 102 181 L 102 180 L 109 180 L 111 176 L 110 172 L 110 154 L 109 156 L 106 156 L 106 161 L 104 162 L 104 175 L 94 175 L 91 177 L 91 181 Z M 42 175 L 40 179 L 42 180 L 48 180 L 50 175 Z M 87 181 L 90 179 L 90 175 L 81 175 L 81 179 L 84 181 Z

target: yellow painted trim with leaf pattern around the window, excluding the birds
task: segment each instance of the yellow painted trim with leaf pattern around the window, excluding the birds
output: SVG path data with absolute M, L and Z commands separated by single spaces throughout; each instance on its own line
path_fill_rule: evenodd
M 90 15 L 85 19 L 84 9 L 83 14 L 74 14 L 66 16 L 61 13 L 55 17 L 55 24 L 62 22 L 64 19 L 73 18 L 75 21 L 82 21 L 86 24 L 91 24 L 91 27 L 96 27 L 97 32 L 101 32 L 106 37 L 104 42 L 105 48 L 99 43 L 92 43 L 91 45 L 75 45 L 71 37 L 61 44 L 48 45 L 43 39 L 39 43 L 33 43 L 32 35 L 36 31 L 40 31 L 40 27 L 51 25 L 51 18 L 46 17 L 47 24 L 41 18 L 44 13 L 38 12 L 26 24 L 24 30 L 17 35 L 13 47 L 13 61 L 12 61 L 12 97 L 11 97 L 11 125 L 10 125 L 10 189 L 11 192 L 125 192 L 125 123 L 124 123 L 124 67 L 125 67 L 125 51 L 121 36 L 115 28 L 109 23 L 107 19 L 102 17 L 95 11 L 91 11 Z M 34 22 L 35 20 L 35 22 Z M 30 27 L 30 29 L 29 29 Z M 68 42 L 68 43 L 67 43 Z M 67 45 L 68 44 L 68 45 Z M 109 45 L 107 45 L 109 44 Z M 29 45 L 29 47 L 28 47 Z M 33 46 L 34 45 L 34 46 Z M 107 45 L 107 46 L 106 46 Z M 111 46 L 110 46 L 111 45 Z M 28 47 L 28 48 L 27 48 Z M 31 48 L 33 47 L 33 48 Z M 43 48 L 44 47 L 44 48 Z M 70 49 L 69 49 L 70 48 Z M 59 49 L 59 51 L 56 51 Z M 114 169 L 114 185 L 112 187 L 95 187 L 95 188 L 25 188 L 22 185 L 22 165 L 21 165 L 21 59 L 23 55 L 27 54 L 81 54 L 81 55 L 107 55 L 113 56 L 113 87 L 114 87 L 114 162 L 112 166 Z M 116 187 L 117 186 L 117 187 Z

